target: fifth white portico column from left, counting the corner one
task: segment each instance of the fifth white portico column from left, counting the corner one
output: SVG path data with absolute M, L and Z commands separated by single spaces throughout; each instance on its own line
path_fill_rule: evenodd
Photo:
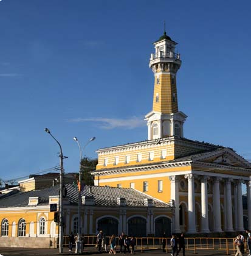
M 225 212 L 227 217 L 227 225 L 225 231 L 233 232 L 233 215 L 232 215 L 232 192 L 231 192 L 231 182 L 233 179 L 225 179 L 225 201 L 226 208 Z

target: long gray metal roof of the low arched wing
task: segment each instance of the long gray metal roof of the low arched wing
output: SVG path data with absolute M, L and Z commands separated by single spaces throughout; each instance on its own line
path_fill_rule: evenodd
M 67 190 L 67 198 L 69 204 L 78 204 L 78 190 L 73 183 L 65 185 Z M 49 196 L 57 196 L 59 194 L 59 185 L 55 187 L 45 188 L 43 190 L 34 190 L 27 192 L 15 191 L 15 193 L 6 194 L 0 197 L 0 208 L 5 207 L 26 207 L 29 206 L 29 197 L 39 197 L 38 205 L 49 204 Z M 170 207 L 169 204 L 158 201 L 153 197 L 140 193 L 132 188 L 114 188 L 100 186 L 85 186 L 81 191 L 81 196 L 93 197 L 94 205 L 116 207 L 117 198 L 125 198 L 128 207 L 146 207 L 145 199 L 153 200 L 153 207 Z

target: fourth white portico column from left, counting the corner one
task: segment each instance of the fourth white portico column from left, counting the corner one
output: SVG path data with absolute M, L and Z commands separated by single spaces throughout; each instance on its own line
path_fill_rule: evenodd
M 213 179 L 213 231 L 222 232 L 221 229 L 221 201 L 219 193 L 219 181 L 221 178 Z

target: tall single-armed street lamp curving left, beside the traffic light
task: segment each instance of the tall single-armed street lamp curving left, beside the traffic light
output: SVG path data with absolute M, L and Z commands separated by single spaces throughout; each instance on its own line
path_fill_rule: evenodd
M 63 151 L 61 144 L 58 142 L 58 140 L 50 133 L 50 130 L 48 128 L 44 129 L 49 135 L 58 143 L 58 146 L 60 146 L 60 201 L 59 201 L 59 240 L 58 240 L 58 247 L 59 247 L 59 253 L 63 254 L 63 173 L 64 173 L 64 167 L 63 167 Z

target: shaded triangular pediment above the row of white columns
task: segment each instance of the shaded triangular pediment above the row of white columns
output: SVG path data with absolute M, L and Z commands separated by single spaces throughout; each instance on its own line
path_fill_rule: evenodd
M 214 163 L 237 168 L 251 168 L 251 164 L 246 159 L 229 148 L 216 149 L 215 151 L 198 155 L 193 158 L 193 162 Z

